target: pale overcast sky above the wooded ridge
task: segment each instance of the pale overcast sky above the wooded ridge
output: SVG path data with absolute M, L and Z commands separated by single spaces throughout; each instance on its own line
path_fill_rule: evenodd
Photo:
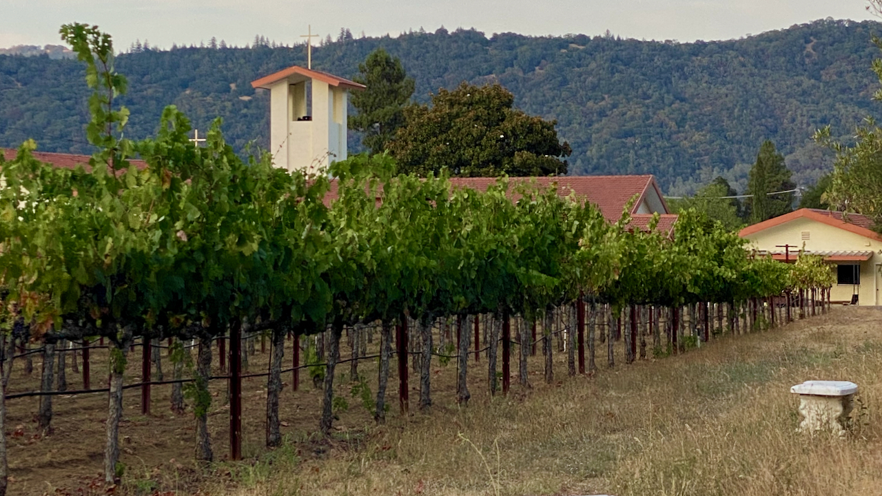
M 58 28 L 97 24 L 117 49 L 139 39 L 169 48 L 212 36 L 243 46 L 262 34 L 291 44 L 307 25 L 323 37 L 475 27 L 490 35 L 613 34 L 647 40 L 728 40 L 815 19 L 875 19 L 866 0 L 0 0 L 0 48 L 60 44 Z

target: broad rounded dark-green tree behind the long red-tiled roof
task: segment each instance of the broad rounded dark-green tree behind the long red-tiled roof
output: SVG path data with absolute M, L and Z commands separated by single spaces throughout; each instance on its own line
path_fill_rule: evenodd
M 432 106 L 405 111 L 389 150 L 399 171 L 420 176 L 448 169 L 454 176 L 566 174 L 572 153 L 557 139 L 557 121 L 514 109 L 514 95 L 498 84 L 460 84 L 432 95 Z

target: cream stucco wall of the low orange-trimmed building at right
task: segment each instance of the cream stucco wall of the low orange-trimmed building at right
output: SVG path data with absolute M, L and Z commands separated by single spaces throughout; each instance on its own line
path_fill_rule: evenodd
M 809 233 L 809 239 L 803 239 L 803 233 Z M 869 237 L 848 232 L 844 229 L 835 228 L 822 222 L 811 219 L 799 218 L 772 228 L 763 229 L 744 237 L 751 248 L 766 251 L 783 251 L 779 244 L 795 245 L 790 250 L 798 252 L 804 247 L 806 251 L 848 251 L 848 252 L 874 252 L 871 259 L 863 262 L 837 262 L 859 263 L 861 266 L 861 284 L 857 287 L 859 304 L 874 305 L 882 304 L 882 278 L 879 277 L 877 264 L 882 265 L 882 242 Z M 833 267 L 832 270 L 835 270 Z M 835 272 L 833 273 L 835 274 Z M 855 291 L 853 286 L 833 285 L 830 297 L 833 301 L 849 301 Z

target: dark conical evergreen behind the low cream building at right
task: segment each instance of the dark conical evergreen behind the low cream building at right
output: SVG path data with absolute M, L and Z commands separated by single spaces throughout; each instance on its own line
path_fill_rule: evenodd
M 784 156 L 775 151 L 774 143 L 766 139 L 759 147 L 757 162 L 747 179 L 747 199 L 751 223 L 787 214 L 793 210 L 793 193 L 778 193 L 792 190 L 796 184 L 790 180 L 791 172 L 784 164 Z

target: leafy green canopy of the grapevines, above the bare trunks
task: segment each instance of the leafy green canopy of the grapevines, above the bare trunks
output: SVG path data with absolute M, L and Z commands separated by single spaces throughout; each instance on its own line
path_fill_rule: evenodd
M 130 141 L 109 37 L 65 29 L 88 67 L 87 135 L 99 152 L 88 170 L 55 169 L 34 160 L 28 141 L 0 164 L 0 274 L 35 337 L 113 339 L 121 326 L 215 335 L 242 319 L 309 334 L 403 313 L 535 316 L 579 294 L 673 305 L 831 283 L 822 260 L 753 258 L 695 212 L 673 233 L 628 230 L 626 215 L 609 224 L 553 189 L 514 191 L 505 178 L 487 192 L 452 189 L 444 176 L 396 175 L 386 155 L 288 174 L 269 154 L 243 161 L 220 122 L 194 147 L 174 106 L 155 138 Z M 127 162 L 134 156 L 146 167 Z

